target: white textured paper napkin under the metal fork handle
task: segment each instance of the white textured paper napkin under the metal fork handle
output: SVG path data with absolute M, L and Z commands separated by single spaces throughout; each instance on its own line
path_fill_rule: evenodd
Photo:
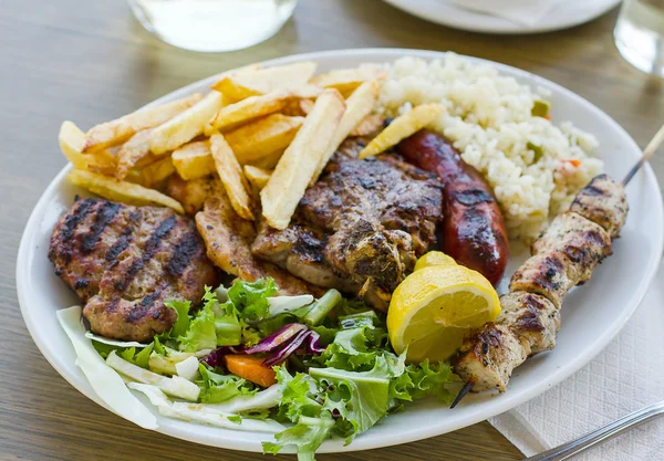
M 664 400 L 662 282 L 664 264 L 627 325 L 589 365 L 540 397 L 490 418 L 489 422 L 530 457 Z M 595 447 L 578 459 L 662 461 L 664 417 Z

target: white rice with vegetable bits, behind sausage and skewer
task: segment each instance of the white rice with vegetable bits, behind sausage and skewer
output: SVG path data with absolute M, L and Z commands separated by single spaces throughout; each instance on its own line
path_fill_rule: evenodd
M 414 105 L 442 103 L 447 114 L 432 128 L 450 139 L 494 188 L 512 239 L 537 238 L 603 169 L 593 155 L 594 136 L 569 122 L 557 126 L 531 116 L 533 102 L 549 96 L 543 88 L 454 53 L 444 61 L 403 57 L 387 69 L 378 111 L 397 115 Z M 528 143 L 542 149 L 538 161 Z M 570 159 L 580 166 L 566 161 Z

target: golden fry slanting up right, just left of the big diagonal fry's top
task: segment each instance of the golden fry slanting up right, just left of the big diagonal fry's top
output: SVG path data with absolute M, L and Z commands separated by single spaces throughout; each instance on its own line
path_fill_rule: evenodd
M 292 92 L 279 91 L 261 96 L 251 96 L 239 103 L 227 105 L 219 111 L 211 122 L 211 129 L 208 129 L 206 134 L 209 135 L 215 130 L 229 130 L 245 122 L 279 112 L 292 98 Z

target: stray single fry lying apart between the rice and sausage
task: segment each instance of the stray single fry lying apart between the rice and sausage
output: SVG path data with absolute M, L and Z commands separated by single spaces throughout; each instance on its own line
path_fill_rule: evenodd
M 369 143 L 369 146 L 362 149 L 357 157 L 366 158 L 385 151 L 390 147 L 398 144 L 400 140 L 407 138 L 412 134 L 424 128 L 444 112 L 445 107 L 440 104 L 423 104 L 413 108 L 406 114 L 392 121 L 390 126 L 383 129 L 378 136 L 373 138 L 372 142 Z

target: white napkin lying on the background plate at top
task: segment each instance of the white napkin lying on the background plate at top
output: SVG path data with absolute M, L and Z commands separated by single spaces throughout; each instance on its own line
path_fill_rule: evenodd
M 466 10 L 532 27 L 561 3 L 571 0 L 446 0 Z M 584 0 L 588 1 L 588 0 Z

